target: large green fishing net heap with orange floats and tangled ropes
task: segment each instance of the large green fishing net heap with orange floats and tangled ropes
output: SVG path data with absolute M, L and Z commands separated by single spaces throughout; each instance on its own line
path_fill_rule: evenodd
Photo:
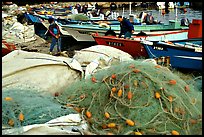
M 202 134 L 202 92 L 165 67 L 137 61 L 99 70 L 56 99 L 99 135 Z

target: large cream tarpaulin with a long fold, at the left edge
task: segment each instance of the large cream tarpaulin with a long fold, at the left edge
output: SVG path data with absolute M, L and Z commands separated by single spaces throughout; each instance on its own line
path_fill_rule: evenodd
M 4 88 L 62 92 L 83 76 L 81 65 L 72 58 L 15 50 L 2 58 Z

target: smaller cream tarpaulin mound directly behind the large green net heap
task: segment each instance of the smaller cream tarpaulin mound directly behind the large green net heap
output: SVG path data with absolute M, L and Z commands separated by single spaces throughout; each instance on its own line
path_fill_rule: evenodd
M 109 67 L 110 65 L 120 63 L 122 61 L 133 60 L 132 56 L 128 53 L 103 45 L 91 46 L 89 48 L 76 51 L 73 58 L 79 61 L 82 66 L 86 66 L 85 78 L 95 73 L 97 69 Z

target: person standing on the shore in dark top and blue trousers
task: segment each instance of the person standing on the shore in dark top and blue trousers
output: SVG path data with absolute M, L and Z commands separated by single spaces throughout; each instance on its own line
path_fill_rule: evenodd
M 49 18 L 48 22 L 50 23 L 48 31 L 52 35 L 50 54 L 52 55 L 52 51 L 56 44 L 57 44 L 57 52 L 60 54 L 61 53 L 61 37 L 60 37 L 61 33 L 60 33 L 59 26 L 54 22 L 53 18 Z

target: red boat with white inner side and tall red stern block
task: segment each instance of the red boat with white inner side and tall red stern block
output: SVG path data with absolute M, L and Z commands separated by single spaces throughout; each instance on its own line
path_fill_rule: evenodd
M 134 58 L 148 58 L 147 52 L 140 43 L 141 39 L 149 41 L 177 41 L 192 38 L 202 38 L 202 20 L 193 19 L 188 30 L 146 32 L 146 36 L 133 36 L 131 39 L 117 38 L 115 36 L 93 35 L 99 45 L 111 46 L 129 53 Z

